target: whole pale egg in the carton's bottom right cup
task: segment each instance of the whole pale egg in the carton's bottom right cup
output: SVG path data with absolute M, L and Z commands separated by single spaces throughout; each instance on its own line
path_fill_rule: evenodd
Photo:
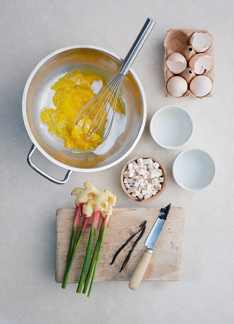
M 198 75 L 189 86 L 190 91 L 196 97 L 206 96 L 212 89 L 212 82 L 206 75 Z

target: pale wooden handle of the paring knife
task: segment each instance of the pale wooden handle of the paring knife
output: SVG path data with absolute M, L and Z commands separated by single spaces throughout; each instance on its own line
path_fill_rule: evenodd
M 133 272 L 133 275 L 129 281 L 128 286 L 130 289 L 135 290 L 139 286 L 139 284 L 142 281 L 142 278 L 144 276 L 145 270 L 148 267 L 151 257 L 152 257 L 151 253 L 144 252 L 140 262 L 138 263 L 138 265 L 137 265 L 135 271 Z

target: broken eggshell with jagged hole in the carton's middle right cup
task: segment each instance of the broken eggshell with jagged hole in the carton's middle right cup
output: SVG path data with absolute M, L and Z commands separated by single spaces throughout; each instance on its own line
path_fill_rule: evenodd
M 191 57 L 188 66 L 196 74 L 203 74 L 204 72 L 210 71 L 210 69 L 212 68 L 211 57 L 205 53 L 196 54 Z

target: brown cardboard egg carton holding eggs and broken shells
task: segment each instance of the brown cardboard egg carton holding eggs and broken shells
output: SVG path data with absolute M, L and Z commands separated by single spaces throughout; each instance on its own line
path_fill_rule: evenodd
M 192 79 L 197 76 L 198 74 L 195 74 L 193 71 L 191 72 L 191 69 L 188 66 L 188 62 L 192 56 L 197 54 L 197 52 L 194 51 L 194 49 L 189 45 L 189 40 L 190 37 L 195 33 L 195 32 L 207 32 L 207 30 L 201 30 L 201 29 L 169 29 L 168 32 L 166 33 L 166 37 L 164 40 L 164 47 L 165 47 L 165 53 L 164 53 L 164 76 L 165 76 L 165 98 L 167 97 L 173 97 L 170 95 L 170 93 L 167 91 L 166 85 L 167 81 L 173 77 L 173 76 L 182 76 L 188 85 L 188 89 L 186 93 L 178 98 L 182 97 L 187 97 L 187 96 L 193 96 L 195 98 L 205 98 L 205 97 L 213 97 L 212 89 L 213 89 L 213 82 L 214 82 L 214 53 L 213 53 L 213 36 L 209 34 L 210 39 L 211 39 L 211 44 L 210 47 L 208 48 L 207 51 L 203 52 L 208 54 L 211 57 L 212 61 L 212 68 L 209 72 L 205 72 L 202 75 L 208 76 L 212 82 L 212 89 L 211 91 L 204 97 L 196 97 L 194 96 L 190 90 L 189 90 L 189 85 Z M 168 56 L 171 53 L 178 52 L 182 55 L 184 55 L 186 62 L 187 62 L 187 67 L 186 70 L 180 74 L 173 74 L 171 71 L 169 71 L 167 65 L 166 65 L 166 60 Z M 173 97 L 176 98 L 176 97 Z

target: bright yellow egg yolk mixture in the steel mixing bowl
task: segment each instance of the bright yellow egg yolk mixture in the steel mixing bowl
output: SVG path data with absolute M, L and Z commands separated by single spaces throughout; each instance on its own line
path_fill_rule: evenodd
M 73 125 L 82 108 L 96 96 L 96 91 L 100 92 L 106 84 L 106 80 L 98 74 L 81 75 L 80 71 L 73 69 L 51 87 L 55 90 L 53 96 L 55 109 L 45 108 L 40 117 L 48 126 L 49 132 L 65 141 L 66 148 L 87 151 L 101 144 L 101 134 L 106 121 L 90 140 L 82 132 L 84 119 L 80 120 L 74 128 Z M 124 104 L 119 99 L 115 111 L 125 115 Z M 86 120 L 85 133 L 88 132 L 92 122 L 92 116 Z

